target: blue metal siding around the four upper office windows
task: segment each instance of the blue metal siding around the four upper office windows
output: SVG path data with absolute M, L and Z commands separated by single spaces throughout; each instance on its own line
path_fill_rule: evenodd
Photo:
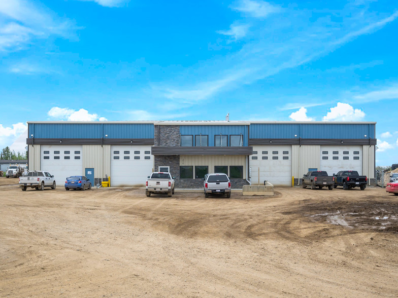
M 230 135 L 243 135 L 243 145 L 247 146 L 247 126 L 246 125 L 181 125 L 180 133 L 183 135 L 208 135 L 209 136 L 209 146 L 214 146 L 214 136 L 215 135 L 228 135 L 228 146 L 229 146 L 229 136 Z

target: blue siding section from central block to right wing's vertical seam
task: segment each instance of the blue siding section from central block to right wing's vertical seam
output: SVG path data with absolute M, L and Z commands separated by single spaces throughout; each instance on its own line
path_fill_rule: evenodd
M 299 137 L 298 124 L 252 124 L 251 139 L 294 139 Z M 296 137 L 294 135 L 297 135 Z

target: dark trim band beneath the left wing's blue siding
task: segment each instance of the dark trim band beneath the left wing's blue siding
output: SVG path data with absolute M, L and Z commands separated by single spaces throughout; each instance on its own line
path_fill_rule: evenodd
M 26 144 L 34 144 L 32 138 L 26 139 Z M 43 145 L 153 145 L 153 139 L 38 139 L 35 144 Z

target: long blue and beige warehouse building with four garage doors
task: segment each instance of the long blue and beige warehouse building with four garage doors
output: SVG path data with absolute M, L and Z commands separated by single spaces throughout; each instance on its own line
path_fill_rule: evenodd
M 177 189 L 200 189 L 207 173 L 247 184 L 300 185 L 303 174 L 356 170 L 375 184 L 375 122 L 28 122 L 28 164 L 58 185 L 71 175 L 138 186 L 170 171 Z

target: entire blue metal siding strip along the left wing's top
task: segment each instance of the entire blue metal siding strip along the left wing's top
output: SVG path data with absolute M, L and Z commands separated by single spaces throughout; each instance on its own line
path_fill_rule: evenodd
M 153 124 L 32 123 L 29 138 L 154 138 Z

